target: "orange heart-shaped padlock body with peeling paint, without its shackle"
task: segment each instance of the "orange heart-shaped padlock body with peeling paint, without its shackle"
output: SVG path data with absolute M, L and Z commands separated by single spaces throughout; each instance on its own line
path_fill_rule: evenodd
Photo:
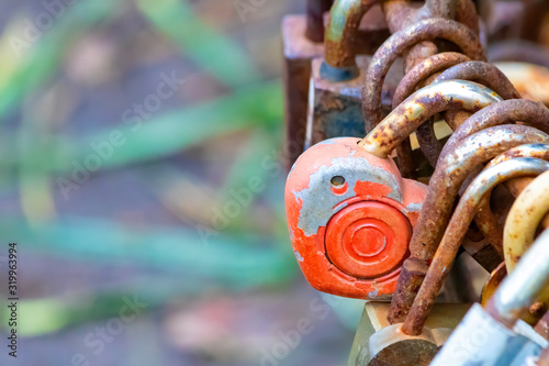
M 317 290 L 389 299 L 426 193 L 360 138 L 326 140 L 295 162 L 285 210 L 295 257 Z

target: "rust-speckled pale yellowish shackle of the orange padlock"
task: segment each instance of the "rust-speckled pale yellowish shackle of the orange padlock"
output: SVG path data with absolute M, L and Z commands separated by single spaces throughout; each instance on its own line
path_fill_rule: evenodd
M 472 81 L 432 84 L 395 108 L 360 142 L 360 146 L 384 158 L 435 113 L 448 109 L 478 111 L 501 100 L 493 90 Z

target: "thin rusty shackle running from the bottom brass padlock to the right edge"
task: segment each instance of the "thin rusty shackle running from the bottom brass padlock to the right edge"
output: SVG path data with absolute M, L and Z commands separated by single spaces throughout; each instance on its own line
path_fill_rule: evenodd
M 502 182 L 525 176 L 537 176 L 549 170 L 546 160 L 518 157 L 484 169 L 469 185 L 456 208 L 450 223 L 437 248 L 427 275 L 402 326 L 408 335 L 421 334 L 433 309 L 442 282 L 466 237 L 469 225 L 480 209 L 481 202 L 490 198 L 492 190 Z

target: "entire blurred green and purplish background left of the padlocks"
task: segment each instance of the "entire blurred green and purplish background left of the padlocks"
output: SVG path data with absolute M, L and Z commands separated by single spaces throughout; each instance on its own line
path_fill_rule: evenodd
M 0 3 L 0 365 L 344 365 L 283 212 L 290 0 Z M 19 350 L 8 357 L 8 243 Z

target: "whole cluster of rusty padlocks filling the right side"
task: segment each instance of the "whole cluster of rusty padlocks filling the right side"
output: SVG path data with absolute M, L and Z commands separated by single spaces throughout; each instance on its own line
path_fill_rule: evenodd
M 539 258 L 549 248 L 538 242 L 549 234 L 525 253 L 549 211 L 549 109 L 522 99 L 485 57 L 498 24 L 520 24 L 531 9 L 481 2 L 491 18 L 470 0 L 336 0 L 284 20 L 287 163 L 301 153 L 288 225 L 314 288 L 371 301 L 349 365 L 428 365 L 445 343 L 434 365 L 544 362 L 549 263 Z M 328 8 L 325 36 L 312 36 Z M 509 8 L 520 11 L 493 15 Z M 470 304 L 436 301 L 456 299 L 445 286 L 460 251 L 492 276 L 485 310 L 474 306 L 450 336 Z M 486 352 L 492 337 L 500 348 Z

